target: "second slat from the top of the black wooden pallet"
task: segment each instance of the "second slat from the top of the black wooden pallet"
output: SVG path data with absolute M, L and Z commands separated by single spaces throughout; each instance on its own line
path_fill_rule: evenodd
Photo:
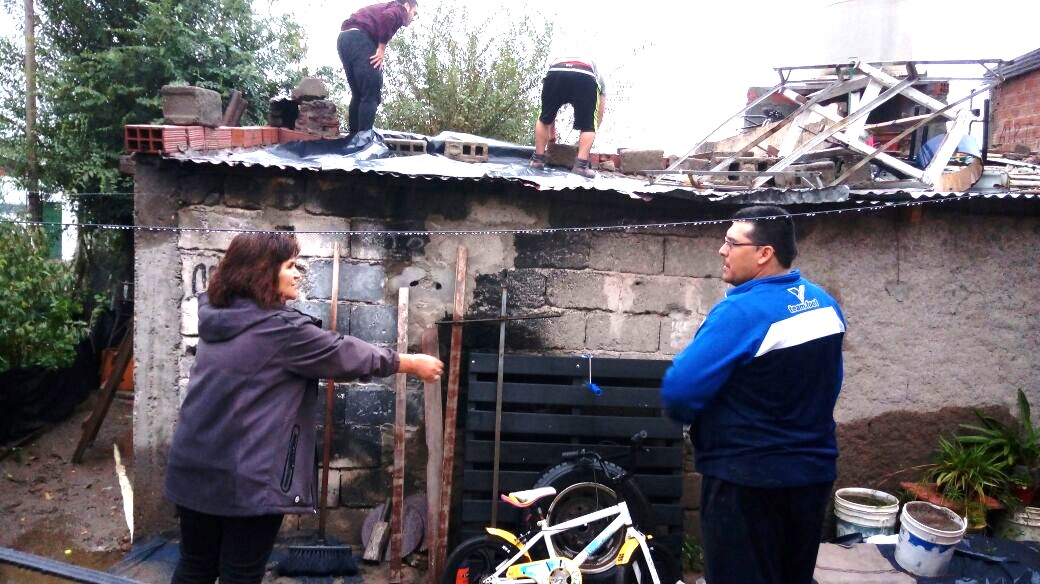
M 504 383 L 502 386 L 502 401 L 509 404 L 660 409 L 660 390 L 608 384 L 600 384 L 600 388 L 603 389 L 603 394 L 597 396 L 583 386 Z M 469 403 L 494 403 L 495 390 L 495 383 L 490 381 L 470 381 Z

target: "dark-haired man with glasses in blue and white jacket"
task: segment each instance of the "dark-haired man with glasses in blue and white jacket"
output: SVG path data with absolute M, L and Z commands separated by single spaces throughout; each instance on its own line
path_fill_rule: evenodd
M 703 475 L 705 579 L 809 584 L 836 474 L 844 317 L 790 269 L 795 225 L 780 207 L 738 211 L 719 255 L 734 288 L 661 383 Z

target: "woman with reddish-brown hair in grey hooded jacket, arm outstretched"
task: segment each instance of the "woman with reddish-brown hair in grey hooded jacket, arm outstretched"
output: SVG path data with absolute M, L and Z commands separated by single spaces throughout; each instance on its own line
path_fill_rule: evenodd
M 412 373 L 443 364 L 322 329 L 285 304 L 298 295 L 300 245 L 236 236 L 199 297 L 199 346 L 166 468 L 181 560 L 175 583 L 258 583 L 285 513 L 313 512 L 315 379 Z

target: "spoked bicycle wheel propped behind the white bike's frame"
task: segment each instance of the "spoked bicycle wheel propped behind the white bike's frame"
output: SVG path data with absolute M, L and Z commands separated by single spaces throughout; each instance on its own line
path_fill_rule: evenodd
M 587 515 L 600 509 L 618 504 L 618 496 L 610 487 L 598 482 L 579 482 L 562 490 L 549 505 L 546 514 L 550 526 L 558 525 L 575 517 Z M 573 558 L 586 546 L 610 525 L 617 515 L 590 522 L 568 529 L 552 537 L 552 545 L 561 556 Z M 615 559 L 621 545 L 625 541 L 625 533 L 619 530 L 610 536 L 598 550 L 589 555 L 579 567 L 583 574 L 601 574 L 614 567 Z

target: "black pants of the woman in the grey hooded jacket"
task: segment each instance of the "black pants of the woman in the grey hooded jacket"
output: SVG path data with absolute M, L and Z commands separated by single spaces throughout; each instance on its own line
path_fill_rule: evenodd
M 225 517 L 177 507 L 181 560 L 173 584 L 258 584 L 263 580 L 282 515 Z

